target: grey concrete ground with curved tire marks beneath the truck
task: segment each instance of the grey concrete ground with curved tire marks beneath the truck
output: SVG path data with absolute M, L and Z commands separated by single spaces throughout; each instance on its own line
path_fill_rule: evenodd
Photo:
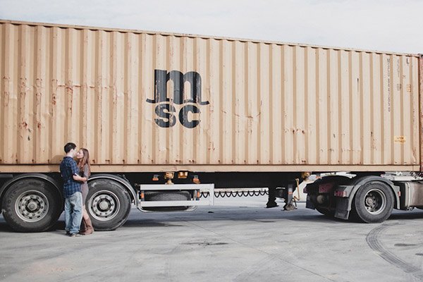
M 0 281 L 423 281 L 422 210 L 364 224 L 265 203 L 133 209 L 117 231 L 81 238 L 14 233 L 0 216 Z

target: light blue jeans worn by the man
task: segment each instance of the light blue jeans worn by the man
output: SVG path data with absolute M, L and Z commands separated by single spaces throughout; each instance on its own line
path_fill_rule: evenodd
M 71 197 L 65 198 L 65 223 L 66 232 L 76 234 L 82 221 L 82 193 L 75 192 Z

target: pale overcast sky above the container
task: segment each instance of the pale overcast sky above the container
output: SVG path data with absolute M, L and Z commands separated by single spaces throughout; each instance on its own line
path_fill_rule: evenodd
M 0 18 L 423 53 L 423 0 L 0 0 Z

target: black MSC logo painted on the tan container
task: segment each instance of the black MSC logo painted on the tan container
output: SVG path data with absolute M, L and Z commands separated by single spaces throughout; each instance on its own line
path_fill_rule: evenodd
M 168 81 L 173 82 L 173 97 L 167 97 Z M 190 85 L 190 97 L 185 97 L 185 82 Z M 195 128 L 200 120 L 199 106 L 209 104 L 202 101 L 201 97 L 201 76 L 200 73 L 190 71 L 181 73 L 180 71 L 154 70 L 154 99 L 147 99 L 148 103 L 158 104 L 155 112 L 157 118 L 154 121 L 161 128 L 171 128 L 176 124 L 176 108 L 173 104 L 182 105 L 179 109 L 178 119 L 185 128 Z M 194 116 L 194 117 L 192 117 Z

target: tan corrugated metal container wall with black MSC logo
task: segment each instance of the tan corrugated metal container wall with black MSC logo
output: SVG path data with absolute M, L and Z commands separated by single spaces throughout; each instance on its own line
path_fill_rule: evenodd
M 8 21 L 0 42 L 1 165 L 68 141 L 98 171 L 420 163 L 418 56 Z

